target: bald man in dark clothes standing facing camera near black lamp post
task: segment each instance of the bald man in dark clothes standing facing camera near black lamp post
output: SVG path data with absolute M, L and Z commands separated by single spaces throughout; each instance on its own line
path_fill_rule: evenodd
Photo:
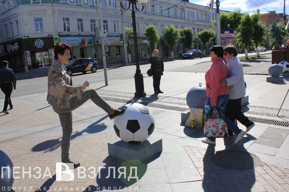
M 164 72 L 164 62 L 162 58 L 159 56 L 159 50 L 153 50 L 155 56 L 151 56 L 149 62 L 151 63 L 151 72 L 153 74 L 153 90 L 155 94 L 157 93 L 164 93 L 160 90 L 160 82 L 161 77 Z

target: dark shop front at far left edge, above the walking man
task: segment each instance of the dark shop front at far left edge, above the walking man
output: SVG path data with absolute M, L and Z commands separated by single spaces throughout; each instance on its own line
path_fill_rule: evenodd
M 23 55 L 21 39 L 0 44 L 0 60 L 8 61 L 9 68 L 13 69 L 14 72 L 25 72 Z

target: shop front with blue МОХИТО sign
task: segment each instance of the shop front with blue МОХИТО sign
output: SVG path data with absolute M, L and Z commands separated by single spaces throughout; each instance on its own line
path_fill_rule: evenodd
M 72 47 L 71 59 L 92 58 L 94 59 L 94 37 L 58 37 L 60 43 L 66 43 Z

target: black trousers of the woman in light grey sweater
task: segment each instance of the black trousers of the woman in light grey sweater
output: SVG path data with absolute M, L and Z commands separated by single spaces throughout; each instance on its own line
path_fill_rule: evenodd
M 241 100 L 242 98 L 229 99 L 225 109 L 225 116 L 227 116 L 232 122 L 235 122 L 235 119 L 237 119 L 242 125 L 249 127 L 253 124 L 253 121 L 250 121 L 248 117 L 246 117 L 241 111 Z M 233 135 L 233 132 L 231 130 L 228 130 L 228 133 L 229 135 Z

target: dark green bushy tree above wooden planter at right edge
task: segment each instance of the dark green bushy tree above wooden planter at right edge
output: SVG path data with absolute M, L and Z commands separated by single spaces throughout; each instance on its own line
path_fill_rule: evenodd
M 286 26 L 284 25 L 283 22 L 273 22 L 269 29 L 270 29 L 270 37 L 271 37 L 271 41 L 270 44 L 271 46 L 281 46 L 282 44 L 282 39 L 288 35 L 287 31 L 286 31 Z

